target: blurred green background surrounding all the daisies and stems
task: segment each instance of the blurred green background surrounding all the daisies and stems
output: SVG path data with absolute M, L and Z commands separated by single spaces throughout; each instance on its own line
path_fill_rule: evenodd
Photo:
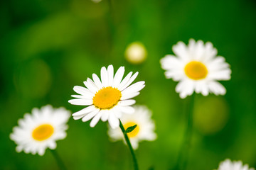
M 231 65 L 222 82 L 225 96 L 196 95 L 193 146 L 188 170 L 216 169 L 226 158 L 256 166 L 256 2 L 252 0 L 10 0 L 0 2 L 0 169 L 58 169 L 49 150 L 43 157 L 16 153 L 9 139 L 24 113 L 50 103 L 79 111 L 68 100 L 73 86 L 108 64 L 139 71 L 146 87 L 136 97 L 153 111 L 158 138 L 136 151 L 141 169 L 176 164 L 186 128 L 186 104 L 164 78 L 159 60 L 189 38 L 213 42 Z M 148 52 L 142 64 L 124 59 L 129 43 Z M 70 118 L 68 137 L 57 151 L 68 169 L 132 169 L 129 150 L 110 142 L 107 123 Z

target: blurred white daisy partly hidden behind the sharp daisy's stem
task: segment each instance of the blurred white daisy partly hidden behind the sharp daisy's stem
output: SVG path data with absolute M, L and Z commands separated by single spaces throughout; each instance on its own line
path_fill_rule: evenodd
M 156 140 L 156 133 L 154 121 L 151 120 L 151 111 L 146 106 L 134 106 L 135 112 L 132 115 L 122 115 L 122 124 L 124 125 L 124 129 L 126 130 L 130 126 L 137 125 L 137 127 L 132 130 L 132 132 L 127 133 L 129 140 L 132 144 L 134 149 L 139 147 L 139 141 L 142 140 L 149 140 L 153 141 Z M 124 140 L 124 135 L 122 130 L 119 128 L 112 129 L 110 128 L 108 131 L 108 135 L 110 136 L 111 140 Z

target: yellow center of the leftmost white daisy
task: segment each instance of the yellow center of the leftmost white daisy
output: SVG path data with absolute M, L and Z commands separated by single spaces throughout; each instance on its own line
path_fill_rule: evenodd
M 51 135 L 53 135 L 54 128 L 52 125 L 43 124 L 35 128 L 32 132 L 32 137 L 34 140 L 42 141 L 47 140 Z

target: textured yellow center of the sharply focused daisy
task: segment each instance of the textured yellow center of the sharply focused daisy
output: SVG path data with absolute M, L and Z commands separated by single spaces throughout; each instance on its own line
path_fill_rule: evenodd
M 103 87 L 92 98 L 93 105 L 100 109 L 110 109 L 117 105 L 122 94 L 121 91 L 112 86 Z

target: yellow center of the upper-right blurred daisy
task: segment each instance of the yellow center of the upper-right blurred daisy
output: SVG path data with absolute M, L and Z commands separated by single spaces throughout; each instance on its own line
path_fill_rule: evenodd
M 185 66 L 185 73 L 190 79 L 199 80 L 206 78 L 208 70 L 201 62 L 188 62 Z

